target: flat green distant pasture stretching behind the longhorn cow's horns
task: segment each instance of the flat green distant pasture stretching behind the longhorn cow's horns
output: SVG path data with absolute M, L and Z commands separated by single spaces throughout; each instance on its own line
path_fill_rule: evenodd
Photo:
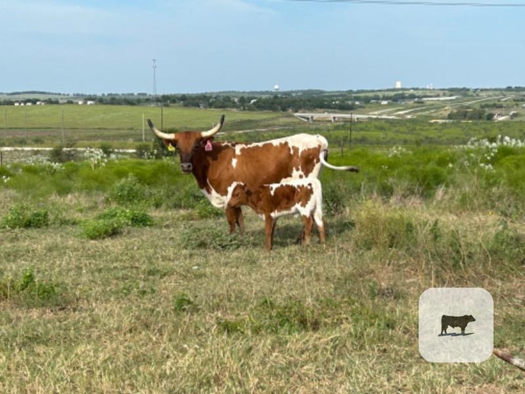
M 74 104 L 1 106 L 0 146 L 99 147 L 103 143 L 113 149 L 135 149 L 138 143 L 153 139 L 148 118 L 164 131 L 206 130 L 216 125 L 222 114 L 226 117 L 224 134 L 217 140 L 264 141 L 293 133 L 319 133 L 328 139 L 332 154 L 349 148 L 350 142 L 352 148 L 446 146 L 464 144 L 473 137 L 522 139 L 525 135 L 523 121 L 430 123 L 425 119 L 370 119 L 352 124 L 308 123 L 283 112 Z

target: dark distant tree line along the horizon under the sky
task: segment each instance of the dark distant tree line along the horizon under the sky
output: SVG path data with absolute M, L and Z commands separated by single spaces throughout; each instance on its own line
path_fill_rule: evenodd
M 409 89 L 388 89 L 383 91 L 372 90 L 347 90 L 347 91 L 324 91 L 324 90 L 298 90 L 298 91 L 255 91 L 255 92 L 221 92 L 214 94 L 165 94 L 153 96 L 148 93 L 127 93 L 117 94 L 109 93 L 102 95 L 84 95 L 74 94 L 71 98 L 64 97 L 60 101 L 56 98 L 48 99 L 4 99 L 0 105 L 13 105 L 15 102 L 36 103 L 41 101 L 49 104 L 75 104 L 78 101 L 93 101 L 102 105 L 163 105 L 163 106 L 183 106 L 195 108 L 220 108 L 220 109 L 237 109 L 245 111 L 352 111 L 370 103 L 388 101 L 391 103 L 416 102 L 423 103 L 423 98 L 429 96 L 445 97 L 446 95 L 471 96 L 476 95 L 483 90 L 492 89 L 469 89 L 469 88 L 449 88 L 447 92 L 443 91 L 413 91 Z M 523 95 L 513 97 L 514 105 L 518 102 L 525 101 L 525 87 L 506 87 L 498 89 L 512 92 L 523 92 Z M 15 94 L 45 94 L 45 92 L 13 92 Z M 53 94 L 55 95 L 55 94 Z M 497 109 L 501 103 L 484 103 L 481 109 L 459 109 L 449 115 L 449 119 L 477 120 L 487 117 L 485 109 Z

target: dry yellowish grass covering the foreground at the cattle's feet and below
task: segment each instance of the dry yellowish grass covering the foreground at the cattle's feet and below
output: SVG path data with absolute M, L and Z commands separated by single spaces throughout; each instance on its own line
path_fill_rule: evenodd
M 15 198 L 2 191 L 1 214 Z M 74 217 L 100 211 L 96 201 L 54 198 Z M 418 297 L 431 286 L 485 287 L 495 345 L 525 347 L 523 266 L 502 249 L 511 241 L 491 244 L 500 217 L 439 202 L 355 201 L 327 218 L 325 247 L 295 245 L 300 221 L 282 219 L 268 253 L 251 213 L 244 239 L 204 243 L 202 234 L 226 231 L 223 218 L 152 214 L 154 227 L 99 241 L 74 225 L 0 230 L 3 283 L 30 268 L 37 285 L 56 287 L 39 304 L 23 292 L 0 298 L 1 392 L 525 389 L 524 376 L 494 357 L 448 365 L 418 353 Z M 523 223 L 509 229 L 510 240 L 525 235 Z

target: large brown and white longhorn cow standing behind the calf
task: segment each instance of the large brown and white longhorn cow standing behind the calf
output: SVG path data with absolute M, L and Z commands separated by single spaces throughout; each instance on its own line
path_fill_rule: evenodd
M 325 158 L 328 141 L 311 134 L 295 134 L 264 142 L 211 142 L 223 126 L 224 115 L 219 123 L 208 131 L 183 131 L 164 133 L 148 124 L 166 146 L 178 150 L 183 173 L 192 173 L 199 189 L 217 208 L 224 208 L 230 233 L 244 233 L 243 213 L 240 208 L 227 206 L 228 187 L 234 182 L 255 187 L 278 183 L 283 179 L 318 178 L 322 165 L 325 167 L 359 172 L 353 166 L 335 167 Z

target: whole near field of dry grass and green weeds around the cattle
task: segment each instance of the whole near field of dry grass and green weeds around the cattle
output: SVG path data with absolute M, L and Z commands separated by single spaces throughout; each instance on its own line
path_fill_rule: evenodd
M 330 161 L 361 173 L 321 177 L 327 244 L 280 219 L 272 252 L 173 158 L 0 167 L 0 392 L 524 391 L 495 357 L 418 353 L 419 295 L 479 286 L 524 356 L 525 148 L 495 138 L 521 125 L 474 126 L 357 125 Z

